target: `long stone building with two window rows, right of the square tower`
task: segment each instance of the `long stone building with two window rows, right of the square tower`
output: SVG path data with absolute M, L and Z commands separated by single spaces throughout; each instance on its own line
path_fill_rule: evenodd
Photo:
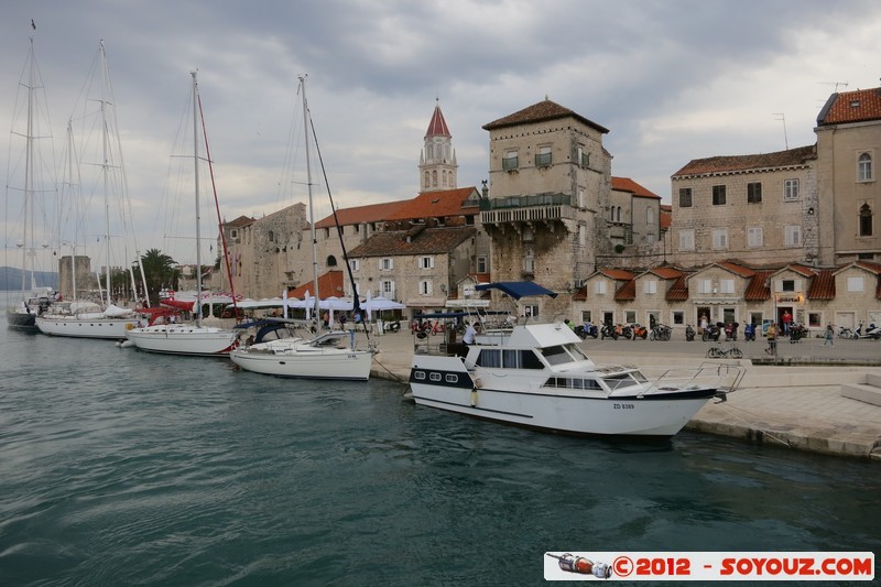
M 814 145 L 688 162 L 671 177 L 672 261 L 820 262 L 815 164 Z

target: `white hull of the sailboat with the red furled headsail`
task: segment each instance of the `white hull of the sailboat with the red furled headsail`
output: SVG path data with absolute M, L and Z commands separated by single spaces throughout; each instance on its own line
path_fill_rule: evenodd
M 146 326 L 126 333 L 141 350 L 195 357 L 227 356 L 236 348 L 236 333 L 215 327 L 187 325 Z

